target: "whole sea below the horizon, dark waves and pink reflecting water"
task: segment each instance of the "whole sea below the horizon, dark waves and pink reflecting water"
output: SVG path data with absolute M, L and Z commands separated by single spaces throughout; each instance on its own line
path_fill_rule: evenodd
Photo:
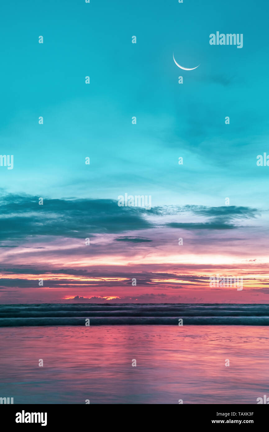
M 268 306 L 107 306 L 2 306 L 1 320 L 16 324 L 0 328 L 0 397 L 14 404 L 256 404 L 269 396 L 269 328 L 256 321 L 268 320 Z M 62 318 L 47 316 L 57 311 Z M 146 324 L 152 318 L 144 314 L 154 311 L 159 325 Z M 86 327 L 84 317 L 109 324 Z M 229 325 L 214 324 L 223 319 Z

